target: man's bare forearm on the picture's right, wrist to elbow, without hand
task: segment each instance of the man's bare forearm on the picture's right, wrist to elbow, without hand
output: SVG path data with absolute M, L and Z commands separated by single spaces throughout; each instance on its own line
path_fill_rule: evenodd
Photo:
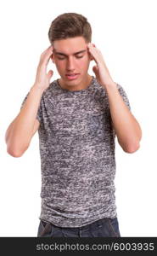
M 142 131 L 137 120 L 123 101 L 116 85 L 113 83 L 105 86 L 109 98 L 111 119 L 121 147 L 126 152 L 132 153 L 139 148 Z

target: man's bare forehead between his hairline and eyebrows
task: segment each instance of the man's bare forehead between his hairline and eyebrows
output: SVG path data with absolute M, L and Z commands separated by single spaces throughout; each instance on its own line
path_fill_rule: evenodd
M 83 37 L 61 39 L 54 41 L 53 48 L 55 51 L 70 55 L 82 49 L 87 49 L 87 42 Z

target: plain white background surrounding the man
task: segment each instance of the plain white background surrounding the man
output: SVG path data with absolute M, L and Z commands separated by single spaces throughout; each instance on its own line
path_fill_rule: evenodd
M 121 236 L 157 236 L 156 66 L 157 1 L 1 1 L 0 3 L 0 236 L 36 236 L 41 169 L 38 133 L 20 158 L 7 154 L 8 125 L 35 81 L 52 20 L 65 12 L 85 15 L 93 43 L 121 84 L 142 127 L 140 149 L 126 154 L 116 140 L 116 205 Z M 54 64 L 53 79 L 59 77 Z M 90 74 L 93 74 L 91 62 Z M 53 80 L 52 79 L 52 80 Z

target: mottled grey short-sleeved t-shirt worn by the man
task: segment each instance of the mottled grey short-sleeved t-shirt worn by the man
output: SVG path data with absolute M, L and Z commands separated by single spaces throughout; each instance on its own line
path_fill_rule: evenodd
M 131 110 L 125 90 L 120 84 L 117 88 Z M 59 227 L 115 218 L 115 130 L 104 87 L 93 77 L 87 89 L 71 91 L 56 79 L 43 92 L 36 119 L 42 172 L 39 218 Z

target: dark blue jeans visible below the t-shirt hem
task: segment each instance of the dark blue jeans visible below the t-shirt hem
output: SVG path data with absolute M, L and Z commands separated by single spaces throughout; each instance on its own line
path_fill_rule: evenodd
M 38 237 L 120 237 L 117 218 L 102 218 L 77 228 L 62 228 L 40 220 Z

